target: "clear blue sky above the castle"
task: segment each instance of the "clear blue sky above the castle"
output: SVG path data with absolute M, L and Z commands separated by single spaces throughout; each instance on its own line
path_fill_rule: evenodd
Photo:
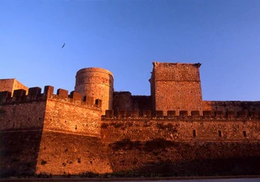
M 203 100 L 260 100 L 260 1 L 0 1 L 0 78 L 70 92 L 99 67 L 150 95 L 155 60 L 202 63 Z

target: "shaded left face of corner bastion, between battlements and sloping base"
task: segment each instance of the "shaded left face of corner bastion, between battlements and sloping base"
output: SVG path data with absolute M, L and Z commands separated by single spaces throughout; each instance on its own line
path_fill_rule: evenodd
M 0 130 L 42 129 L 45 105 L 45 100 L 0 105 Z

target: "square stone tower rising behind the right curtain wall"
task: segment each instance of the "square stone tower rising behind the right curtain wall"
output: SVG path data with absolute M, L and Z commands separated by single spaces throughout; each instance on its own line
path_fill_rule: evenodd
M 200 111 L 202 114 L 202 92 L 200 85 L 200 63 L 153 62 L 151 74 L 151 98 L 153 112 L 163 110 Z

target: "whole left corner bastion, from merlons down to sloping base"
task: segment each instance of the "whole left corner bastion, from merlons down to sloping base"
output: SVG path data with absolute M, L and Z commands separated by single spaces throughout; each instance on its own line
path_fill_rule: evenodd
M 112 172 L 99 139 L 102 101 L 53 90 L 0 92 L 0 177 Z

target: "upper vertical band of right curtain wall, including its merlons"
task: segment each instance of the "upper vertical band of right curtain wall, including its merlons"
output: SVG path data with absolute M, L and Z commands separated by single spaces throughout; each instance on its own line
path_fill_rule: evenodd
M 260 139 L 260 118 L 253 112 L 251 115 L 239 112 L 192 112 L 180 111 L 175 116 L 169 111 L 163 116 L 162 111 L 146 111 L 143 116 L 139 111 L 121 111 L 114 115 L 107 111 L 102 119 L 102 139 L 119 141 L 130 139 L 134 141 L 147 141 L 152 139 L 166 139 L 170 141 L 256 141 Z M 128 115 L 129 114 L 129 115 Z

